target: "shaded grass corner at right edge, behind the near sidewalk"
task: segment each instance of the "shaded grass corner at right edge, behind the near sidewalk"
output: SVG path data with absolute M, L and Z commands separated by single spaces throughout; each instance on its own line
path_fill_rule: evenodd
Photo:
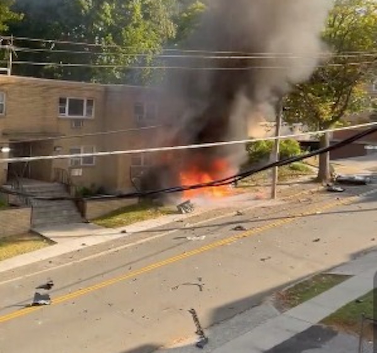
M 322 324 L 332 326 L 340 331 L 359 334 L 362 314 L 368 318 L 373 318 L 374 316 L 374 300 L 377 300 L 377 289 L 343 306 L 324 319 Z M 365 325 L 365 337 L 369 339 L 373 337 L 373 325 L 371 322 L 367 322 Z

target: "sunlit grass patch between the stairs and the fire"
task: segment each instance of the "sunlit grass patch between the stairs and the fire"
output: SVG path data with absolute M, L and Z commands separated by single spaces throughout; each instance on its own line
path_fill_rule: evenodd
M 150 203 L 138 203 L 111 212 L 104 217 L 93 220 L 93 223 L 106 228 L 116 228 L 154 219 L 162 215 L 175 214 L 176 212 L 172 207 L 156 207 Z

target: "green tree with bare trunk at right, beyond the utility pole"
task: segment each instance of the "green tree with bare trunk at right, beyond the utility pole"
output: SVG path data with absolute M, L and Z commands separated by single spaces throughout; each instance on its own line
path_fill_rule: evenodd
M 371 108 L 366 90 L 375 74 L 377 3 L 374 0 L 336 0 L 323 40 L 333 55 L 311 79 L 295 87 L 285 100 L 285 120 L 310 128 L 328 129 L 344 116 Z M 329 145 L 328 134 L 320 146 Z M 320 157 L 319 180 L 330 177 L 329 154 Z

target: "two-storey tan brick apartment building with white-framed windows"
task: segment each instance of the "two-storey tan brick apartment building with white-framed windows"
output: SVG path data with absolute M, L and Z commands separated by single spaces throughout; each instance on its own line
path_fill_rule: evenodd
M 0 75 L 0 147 L 10 148 L 0 157 L 152 147 L 157 129 L 69 136 L 156 125 L 156 101 L 156 93 L 145 87 Z M 46 182 L 70 179 L 76 186 L 126 191 L 132 188 L 130 176 L 149 164 L 146 155 L 1 163 L 0 183 L 15 176 Z

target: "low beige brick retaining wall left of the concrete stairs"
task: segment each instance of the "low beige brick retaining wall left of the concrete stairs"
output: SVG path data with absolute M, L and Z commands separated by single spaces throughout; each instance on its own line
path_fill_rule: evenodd
M 30 230 L 31 208 L 0 211 L 0 238 L 26 233 Z

